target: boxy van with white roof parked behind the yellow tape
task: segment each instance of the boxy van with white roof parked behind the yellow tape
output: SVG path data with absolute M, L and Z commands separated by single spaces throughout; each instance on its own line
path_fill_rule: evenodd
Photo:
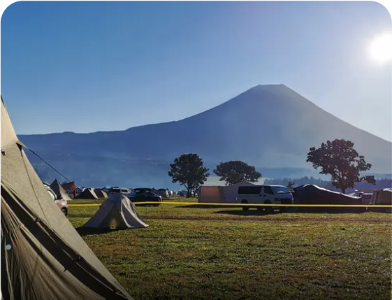
M 240 185 L 238 187 L 237 203 L 255 204 L 291 204 L 293 194 L 283 185 Z M 252 206 L 242 206 L 249 210 Z M 273 206 L 256 206 L 257 210 L 273 210 Z M 278 206 L 280 210 L 284 207 Z

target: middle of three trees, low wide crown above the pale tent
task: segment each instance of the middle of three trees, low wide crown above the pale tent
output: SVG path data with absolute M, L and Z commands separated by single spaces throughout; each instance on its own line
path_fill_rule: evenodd
M 226 181 L 226 185 L 235 185 L 242 181 L 256 183 L 261 178 L 261 173 L 254 166 L 249 166 L 240 160 L 221 162 L 214 173 L 220 177 L 220 181 Z

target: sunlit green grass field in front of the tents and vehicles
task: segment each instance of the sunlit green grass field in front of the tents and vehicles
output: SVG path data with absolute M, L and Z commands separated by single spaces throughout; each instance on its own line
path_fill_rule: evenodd
M 150 227 L 83 236 L 134 299 L 391 299 L 392 214 L 137 210 Z

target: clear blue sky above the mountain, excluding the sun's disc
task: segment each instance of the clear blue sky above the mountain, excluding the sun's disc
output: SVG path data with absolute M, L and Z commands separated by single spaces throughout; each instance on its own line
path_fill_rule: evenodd
M 0 22 L 0 90 L 18 134 L 180 120 L 284 83 L 392 141 L 392 30 L 375 1 L 17 1 Z

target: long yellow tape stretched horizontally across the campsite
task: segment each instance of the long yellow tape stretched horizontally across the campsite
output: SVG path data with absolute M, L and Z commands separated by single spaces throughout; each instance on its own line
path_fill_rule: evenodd
M 272 206 L 272 207 L 372 207 L 372 208 L 392 208 L 392 205 L 365 205 L 365 204 L 252 204 L 252 203 L 200 203 L 200 202 L 133 202 L 133 204 L 170 204 L 170 205 L 182 205 L 182 206 Z M 68 204 L 68 206 L 101 206 L 101 204 Z

